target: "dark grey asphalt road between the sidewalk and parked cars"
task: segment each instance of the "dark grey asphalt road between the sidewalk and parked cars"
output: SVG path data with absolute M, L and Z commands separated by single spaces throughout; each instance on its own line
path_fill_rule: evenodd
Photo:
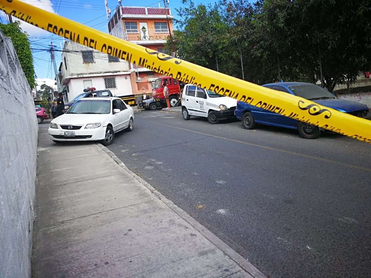
M 269 277 L 371 277 L 371 148 L 146 111 L 109 147 Z

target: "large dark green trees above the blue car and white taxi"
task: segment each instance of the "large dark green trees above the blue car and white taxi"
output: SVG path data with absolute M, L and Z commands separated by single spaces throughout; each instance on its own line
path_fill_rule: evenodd
M 177 10 L 181 59 L 262 84 L 320 79 L 332 91 L 371 66 L 371 0 L 220 0 Z M 167 43 L 167 46 L 170 44 Z

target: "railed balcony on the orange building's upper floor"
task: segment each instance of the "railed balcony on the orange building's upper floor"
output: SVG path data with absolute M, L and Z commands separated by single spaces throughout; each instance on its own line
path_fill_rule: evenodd
M 171 30 L 173 34 L 173 30 Z M 142 30 L 125 30 L 124 40 L 138 44 L 165 43 L 169 36 L 168 29 L 146 29 Z

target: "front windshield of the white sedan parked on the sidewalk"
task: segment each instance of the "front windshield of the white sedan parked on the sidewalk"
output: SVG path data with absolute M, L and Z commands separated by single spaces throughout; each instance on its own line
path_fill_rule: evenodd
M 109 114 L 111 112 L 110 100 L 79 100 L 67 114 Z

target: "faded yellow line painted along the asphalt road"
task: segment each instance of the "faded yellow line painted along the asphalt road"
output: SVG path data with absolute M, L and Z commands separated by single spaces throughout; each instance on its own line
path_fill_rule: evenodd
M 156 123 L 156 122 L 154 122 L 154 123 Z M 343 163 L 343 162 L 339 162 L 339 161 L 336 161 L 336 160 L 320 158 L 318 156 L 305 155 L 303 153 L 291 152 L 289 150 L 276 149 L 276 148 L 272 148 L 272 147 L 267 147 L 267 146 L 258 145 L 258 144 L 254 144 L 254 143 L 249 143 L 249 142 L 236 140 L 236 139 L 230 139 L 230 138 L 226 138 L 226 137 L 222 137 L 222 136 L 218 136 L 218 135 L 213 135 L 213 134 L 209 134 L 209 133 L 204 133 L 204 132 L 200 132 L 200 131 L 195 131 L 195 130 L 191 130 L 191 129 L 178 128 L 177 126 L 165 125 L 163 123 L 156 123 L 156 124 L 157 125 L 162 125 L 162 126 L 168 126 L 170 128 L 176 128 L 176 129 L 180 129 L 180 130 L 190 131 L 190 132 L 198 133 L 198 134 L 202 134 L 202 135 L 207 135 L 207 136 L 211 136 L 211 137 L 218 138 L 218 139 L 224 139 L 224 140 L 228 140 L 228 141 L 232 141 L 232 142 L 236 142 L 236 143 L 241 143 L 241 144 L 245 144 L 245 145 L 249 145 L 249 146 L 254 146 L 254 147 L 258 147 L 258 148 L 262 148 L 262 149 L 275 150 L 277 152 L 289 153 L 290 155 L 302 156 L 302 157 L 305 157 L 305 158 L 311 158 L 311 159 L 320 160 L 320 161 L 324 161 L 324 162 L 328 162 L 328 163 L 333 163 L 333 164 L 337 164 L 337 165 L 341 165 L 341 166 L 356 168 L 356 169 L 363 170 L 363 171 L 371 171 L 371 168 L 360 167 L 360 166 L 357 166 L 357 165 Z

